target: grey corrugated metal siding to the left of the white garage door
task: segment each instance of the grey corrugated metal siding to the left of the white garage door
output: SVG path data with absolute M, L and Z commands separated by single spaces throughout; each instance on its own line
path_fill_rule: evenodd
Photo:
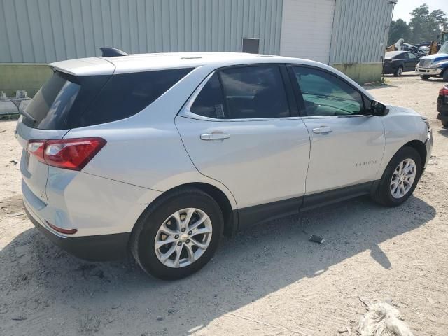
M 126 52 L 278 55 L 283 0 L 0 0 L 0 62 L 49 63 Z

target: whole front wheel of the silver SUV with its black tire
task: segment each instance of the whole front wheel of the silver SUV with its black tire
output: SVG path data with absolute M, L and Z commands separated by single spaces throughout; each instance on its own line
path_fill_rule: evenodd
M 405 202 L 414 192 L 421 176 L 421 158 L 412 147 L 403 147 L 398 151 L 379 181 L 372 198 L 386 206 L 396 207 Z

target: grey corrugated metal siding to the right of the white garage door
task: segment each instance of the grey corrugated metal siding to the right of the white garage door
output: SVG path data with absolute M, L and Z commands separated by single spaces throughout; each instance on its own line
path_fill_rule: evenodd
M 330 64 L 382 62 L 393 3 L 336 0 Z

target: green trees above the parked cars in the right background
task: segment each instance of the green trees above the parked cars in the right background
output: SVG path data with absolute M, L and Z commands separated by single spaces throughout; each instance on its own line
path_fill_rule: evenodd
M 409 25 L 401 19 L 391 22 L 388 45 L 392 45 L 399 38 L 404 38 L 405 43 L 412 44 L 433 41 L 441 31 L 448 30 L 447 15 L 440 9 L 429 12 L 426 3 L 412 10 L 410 14 L 412 18 Z

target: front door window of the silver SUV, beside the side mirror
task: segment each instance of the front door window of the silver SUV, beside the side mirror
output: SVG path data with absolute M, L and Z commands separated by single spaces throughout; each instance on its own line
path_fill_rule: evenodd
M 293 67 L 307 116 L 352 116 L 365 114 L 363 97 L 351 85 L 314 68 Z

